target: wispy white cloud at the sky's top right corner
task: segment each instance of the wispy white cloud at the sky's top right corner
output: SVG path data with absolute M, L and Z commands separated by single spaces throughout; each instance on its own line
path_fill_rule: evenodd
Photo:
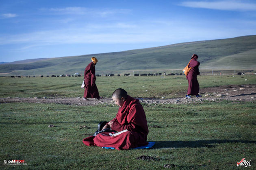
M 185 1 L 179 4 L 191 8 L 208 8 L 217 10 L 229 11 L 255 11 L 256 3 L 249 3 L 245 1 L 236 0 L 222 0 L 222 1 Z

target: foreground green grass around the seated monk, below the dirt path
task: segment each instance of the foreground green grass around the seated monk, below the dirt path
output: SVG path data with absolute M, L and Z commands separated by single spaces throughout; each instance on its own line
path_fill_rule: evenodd
M 117 106 L 0 104 L 1 169 L 235 169 L 243 157 L 255 169 L 255 102 L 143 104 L 153 149 L 117 151 L 87 147 L 82 139 Z M 56 127 L 49 128 L 49 124 Z M 89 128 L 80 126 L 87 125 Z M 154 125 L 161 126 L 154 128 Z M 154 161 L 137 160 L 148 155 Z M 27 165 L 7 166 L 4 160 Z M 239 167 L 241 168 L 241 167 Z

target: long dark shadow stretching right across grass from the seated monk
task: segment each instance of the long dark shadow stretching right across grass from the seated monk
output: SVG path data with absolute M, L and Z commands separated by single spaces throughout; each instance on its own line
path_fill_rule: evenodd
M 156 141 L 153 149 L 161 148 L 200 148 L 200 147 L 215 147 L 213 144 L 222 143 L 254 143 L 254 140 L 193 140 L 193 141 Z

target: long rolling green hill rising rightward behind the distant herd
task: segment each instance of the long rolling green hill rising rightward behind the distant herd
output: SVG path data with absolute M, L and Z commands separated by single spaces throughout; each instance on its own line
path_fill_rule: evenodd
M 97 57 L 99 61 L 96 65 L 96 74 L 124 73 L 127 70 L 182 69 L 193 53 L 199 56 L 201 69 L 255 69 L 256 35 L 114 53 L 23 60 L 1 64 L 0 74 L 83 74 L 92 56 Z

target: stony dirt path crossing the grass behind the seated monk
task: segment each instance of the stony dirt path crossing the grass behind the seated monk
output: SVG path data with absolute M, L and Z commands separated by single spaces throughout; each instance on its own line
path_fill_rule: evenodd
M 170 98 L 170 99 L 140 99 L 141 103 L 146 104 L 185 104 L 191 102 L 217 101 L 217 100 L 234 100 L 234 101 L 256 101 L 256 85 L 226 85 L 219 87 L 208 87 L 200 89 L 202 98 Z M 0 103 L 24 102 L 24 103 L 56 103 L 72 104 L 79 106 L 88 106 L 95 104 L 114 104 L 111 98 L 102 100 L 82 98 L 0 98 Z

